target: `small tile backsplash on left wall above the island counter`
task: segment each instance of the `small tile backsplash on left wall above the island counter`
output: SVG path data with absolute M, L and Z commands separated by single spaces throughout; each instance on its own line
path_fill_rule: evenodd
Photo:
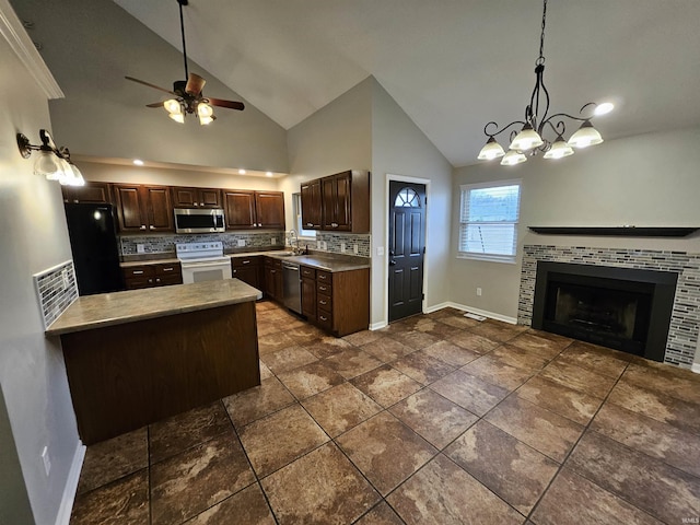
M 34 288 L 39 300 L 44 328 L 48 328 L 78 299 L 73 261 L 34 275 Z

